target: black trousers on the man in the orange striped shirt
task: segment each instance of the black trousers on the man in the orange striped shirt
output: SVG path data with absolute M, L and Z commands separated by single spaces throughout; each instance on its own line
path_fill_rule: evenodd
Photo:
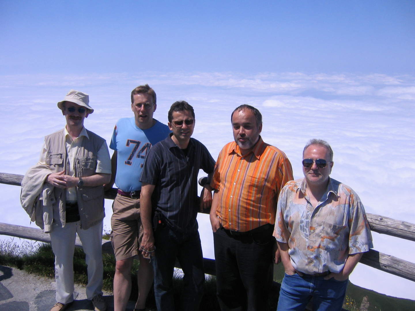
M 222 311 L 269 310 L 276 243 L 272 233 L 271 224 L 243 235 L 222 227 L 213 233 L 217 298 Z

